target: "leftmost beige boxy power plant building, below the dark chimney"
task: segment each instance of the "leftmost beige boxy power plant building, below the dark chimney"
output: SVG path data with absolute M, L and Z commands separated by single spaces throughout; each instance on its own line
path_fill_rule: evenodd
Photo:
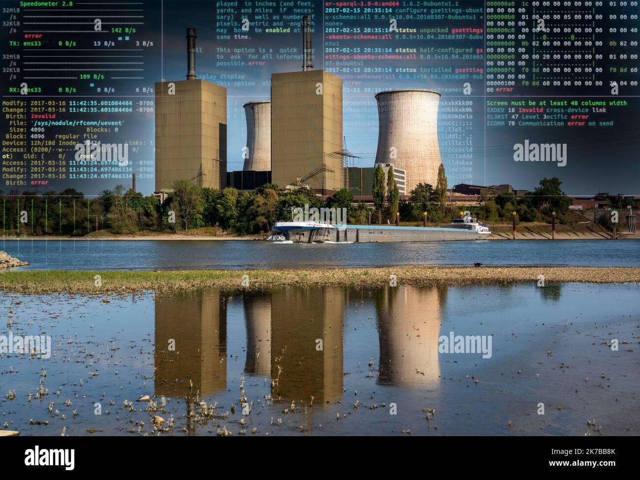
M 156 192 L 187 179 L 223 188 L 227 179 L 227 89 L 205 80 L 156 83 Z

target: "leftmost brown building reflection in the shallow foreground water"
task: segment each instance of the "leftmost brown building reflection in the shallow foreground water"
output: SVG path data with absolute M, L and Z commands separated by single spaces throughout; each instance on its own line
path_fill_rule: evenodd
M 156 396 L 206 397 L 227 388 L 227 308 L 220 292 L 156 294 L 155 362 Z

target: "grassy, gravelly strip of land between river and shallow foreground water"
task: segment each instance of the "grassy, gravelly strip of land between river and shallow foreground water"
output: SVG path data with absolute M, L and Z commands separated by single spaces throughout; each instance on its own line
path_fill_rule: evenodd
M 638 283 L 629 267 L 388 267 L 182 271 L 6 271 L 0 290 L 101 294 L 142 290 L 269 289 L 284 285 L 472 285 L 540 282 Z M 99 286 L 97 286 L 99 285 Z

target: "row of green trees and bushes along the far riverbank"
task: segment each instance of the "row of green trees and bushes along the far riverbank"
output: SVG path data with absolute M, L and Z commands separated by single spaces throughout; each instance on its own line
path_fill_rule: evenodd
M 392 170 L 390 170 L 392 172 Z M 396 212 L 405 224 L 422 224 L 423 213 L 430 223 L 449 221 L 458 217 L 460 207 L 447 205 L 447 179 L 444 168 L 438 174 L 435 188 L 419 184 L 411 191 L 410 199 L 399 200 L 397 184 L 392 174 L 385 181 L 380 167 L 374 174 L 374 209 L 364 202 L 355 202 L 348 189 L 341 189 L 323 200 L 312 189 L 300 187 L 282 191 L 275 184 L 265 184 L 253 191 L 235 188 L 222 190 L 200 188 L 190 180 L 177 180 L 173 191 L 161 205 L 152 196 L 143 196 L 132 189 L 117 186 L 105 190 L 95 198 L 86 198 L 75 189 L 42 195 L 11 191 L 3 200 L 4 236 L 113 236 L 121 234 L 182 233 L 211 228 L 216 235 L 248 235 L 269 232 L 278 220 L 289 220 L 294 208 L 346 208 L 348 223 L 366 224 L 372 221 L 394 221 Z M 522 198 L 513 193 L 495 195 L 483 193 L 481 205 L 465 207 L 481 221 L 511 222 L 516 212 L 519 222 L 550 222 L 555 211 L 560 224 L 586 220 L 568 211 L 571 199 L 561 189 L 557 178 L 543 179 L 540 186 Z M 625 207 L 627 205 L 624 205 Z M 637 205 L 633 205 L 637 206 Z M 170 223 L 168 212 L 175 212 Z M 99 230 L 96 233 L 96 230 Z M 211 232 L 205 233 L 211 235 Z

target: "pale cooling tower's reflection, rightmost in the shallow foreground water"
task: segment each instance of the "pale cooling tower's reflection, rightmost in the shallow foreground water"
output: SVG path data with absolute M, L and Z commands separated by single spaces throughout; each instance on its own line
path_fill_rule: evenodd
M 375 292 L 383 385 L 435 389 L 438 337 L 447 287 L 387 287 Z

